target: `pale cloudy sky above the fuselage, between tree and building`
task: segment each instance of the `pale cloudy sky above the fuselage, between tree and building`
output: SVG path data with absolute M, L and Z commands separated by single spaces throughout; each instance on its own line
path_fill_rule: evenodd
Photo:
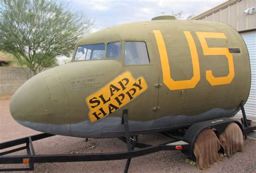
M 73 0 L 72 8 L 83 11 L 85 15 L 95 20 L 93 31 L 105 27 L 145 21 L 163 15 L 172 15 L 183 11 L 183 19 L 194 13 L 199 15 L 227 0 L 152 0 L 152 1 L 107 1 L 107 0 Z

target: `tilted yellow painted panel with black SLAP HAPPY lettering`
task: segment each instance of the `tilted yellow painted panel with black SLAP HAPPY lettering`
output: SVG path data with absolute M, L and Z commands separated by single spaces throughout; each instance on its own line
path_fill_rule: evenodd
M 125 72 L 86 98 L 91 122 L 102 119 L 136 98 L 147 89 L 143 77 L 135 80 Z

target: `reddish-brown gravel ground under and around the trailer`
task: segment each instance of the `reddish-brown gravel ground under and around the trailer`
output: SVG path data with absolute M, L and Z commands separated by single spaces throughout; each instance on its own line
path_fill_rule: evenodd
M 38 134 L 19 125 L 9 113 L 10 99 L 0 99 L 0 143 L 12 139 Z M 143 135 L 139 140 L 147 143 L 170 141 L 160 134 Z M 82 154 L 107 153 L 126 150 L 126 145 L 118 139 L 89 139 L 68 136 L 52 136 L 33 142 L 36 154 Z M 247 138 L 242 153 L 235 153 L 231 158 L 215 162 L 203 172 L 256 172 L 256 139 Z M 0 150 L 0 152 L 2 152 Z M 25 151 L 16 154 L 25 154 Z M 73 163 L 35 164 L 35 172 L 123 172 L 126 160 Z M 25 165 L 3 165 L 0 168 L 24 167 Z M 201 172 L 195 165 L 186 162 L 186 156 L 180 152 L 164 151 L 132 158 L 129 172 Z

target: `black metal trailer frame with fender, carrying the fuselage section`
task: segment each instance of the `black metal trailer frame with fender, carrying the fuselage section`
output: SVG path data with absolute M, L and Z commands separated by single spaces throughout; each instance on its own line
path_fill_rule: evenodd
M 198 134 L 203 131 L 205 128 L 214 128 L 217 132 L 221 133 L 225 130 L 228 124 L 235 122 L 239 125 L 242 132 L 245 135 L 246 133 L 256 129 L 256 126 L 248 126 L 246 114 L 244 111 L 244 106 L 241 102 L 240 104 L 242 114 L 244 117 L 244 125 L 241 125 L 240 122 L 230 119 L 230 118 L 219 118 L 209 121 L 202 121 L 196 124 L 191 125 L 188 129 L 185 129 L 185 132 L 182 136 L 177 136 L 171 132 L 162 132 L 166 136 L 169 136 L 172 139 L 170 142 L 161 143 L 160 145 L 152 146 L 146 143 L 141 143 L 134 136 L 130 135 L 129 123 L 128 123 L 128 110 L 123 110 L 122 124 L 125 128 L 125 137 L 119 138 L 127 145 L 126 152 L 118 153 L 97 153 L 97 154 L 62 154 L 62 155 L 36 155 L 33 148 L 33 141 L 48 138 L 54 136 L 54 134 L 41 133 L 33 136 L 28 136 L 26 138 L 21 138 L 17 140 L 12 140 L 8 142 L 0 143 L 0 149 L 6 149 L 18 145 L 25 144 L 23 147 L 11 149 L 5 152 L 0 153 L 0 164 L 18 164 L 18 163 L 27 163 L 29 164 L 28 168 L 2 168 L 0 171 L 24 171 L 24 170 L 34 170 L 34 163 L 53 163 L 53 162 L 82 162 L 82 161 L 107 161 L 107 160 L 124 160 L 127 159 L 124 172 L 128 172 L 131 158 L 143 156 L 147 154 L 156 153 L 162 150 L 181 150 L 181 152 L 188 155 L 191 160 L 196 161 L 196 158 L 193 154 L 193 145 L 196 141 Z M 134 150 L 134 148 L 139 148 Z M 26 149 L 27 155 L 11 155 L 5 156 L 6 154 L 15 153 L 19 150 Z

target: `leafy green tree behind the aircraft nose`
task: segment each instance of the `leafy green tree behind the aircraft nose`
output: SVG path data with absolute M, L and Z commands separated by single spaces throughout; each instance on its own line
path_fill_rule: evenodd
M 56 63 L 56 56 L 70 56 L 76 41 L 93 24 L 58 1 L 0 2 L 0 51 L 14 55 L 34 75 Z

